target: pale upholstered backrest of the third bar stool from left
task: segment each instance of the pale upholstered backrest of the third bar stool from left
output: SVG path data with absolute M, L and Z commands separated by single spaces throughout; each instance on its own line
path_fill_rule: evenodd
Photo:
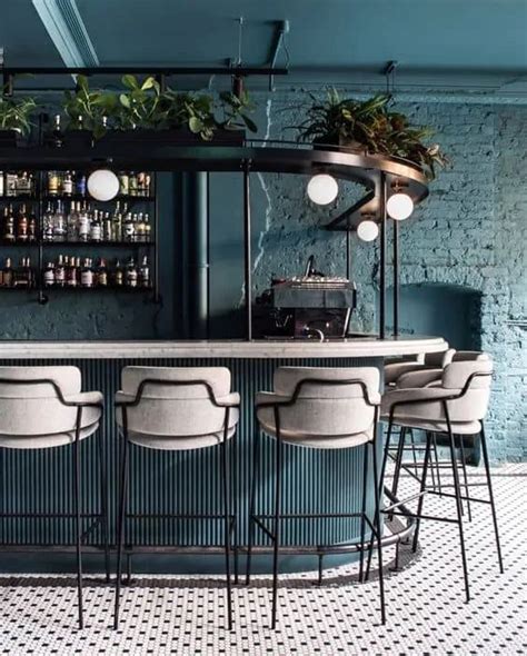
M 357 435 L 371 428 L 375 407 L 368 404 L 367 396 L 378 402 L 377 368 L 280 367 L 275 371 L 275 394 L 290 398 L 295 388 L 306 379 L 325 382 L 305 382 L 296 402 L 280 409 L 282 430 L 314 437 L 336 437 Z M 346 380 L 359 380 L 364 388 L 357 384 L 339 382 Z

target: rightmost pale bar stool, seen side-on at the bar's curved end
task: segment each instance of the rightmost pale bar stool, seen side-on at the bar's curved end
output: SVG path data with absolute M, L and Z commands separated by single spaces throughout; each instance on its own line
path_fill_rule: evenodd
M 382 397 L 381 405 L 381 419 L 384 421 L 388 421 L 388 434 L 382 460 L 382 474 L 386 468 L 389 443 L 394 426 L 399 426 L 401 428 L 418 428 L 426 433 L 426 450 L 422 464 L 419 500 L 417 513 L 414 515 L 417 518 L 417 521 L 412 548 L 414 551 L 417 550 L 421 518 L 455 521 L 459 528 L 459 541 L 461 548 L 465 594 L 467 602 L 470 599 L 470 590 L 465 550 L 461 503 L 464 499 L 469 497 L 468 495 L 461 495 L 459 473 L 456 460 L 456 443 L 461 443 L 468 436 L 473 437 L 479 435 L 481 440 L 486 483 L 489 494 L 489 499 L 470 498 L 470 501 L 490 505 L 499 569 L 501 573 L 504 571 L 496 506 L 490 480 L 490 466 L 484 428 L 484 419 L 487 414 L 490 396 L 493 361 L 485 354 L 481 354 L 481 356 L 485 357 L 478 357 L 473 360 L 457 361 L 447 365 L 441 374 L 440 381 L 436 380 L 432 386 L 397 388 L 389 390 Z M 427 473 L 432 434 L 444 436 L 448 441 L 450 450 L 449 464 L 454 477 L 454 494 L 446 491 L 439 493 L 435 488 L 430 489 L 427 487 Z M 454 520 L 445 517 L 424 516 L 422 507 L 426 494 L 436 494 L 444 497 L 454 498 L 456 500 L 457 519 Z M 397 509 L 404 503 L 405 501 L 402 500 L 392 504 L 389 508 L 385 508 L 385 513 L 389 513 L 390 515 L 400 515 Z

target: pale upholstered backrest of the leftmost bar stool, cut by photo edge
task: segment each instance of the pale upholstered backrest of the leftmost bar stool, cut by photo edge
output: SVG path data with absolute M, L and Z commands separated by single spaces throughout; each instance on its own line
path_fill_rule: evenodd
M 53 380 L 63 397 L 81 390 L 77 367 L 0 367 L 0 435 L 51 435 L 74 429 L 77 409 L 63 406 L 49 382 L 31 382 L 44 379 Z

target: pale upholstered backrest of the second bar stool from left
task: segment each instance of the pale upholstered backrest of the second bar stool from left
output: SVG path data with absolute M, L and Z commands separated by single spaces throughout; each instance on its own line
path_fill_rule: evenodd
M 128 430 L 132 433 L 152 437 L 197 437 L 223 430 L 226 409 L 213 405 L 203 382 L 218 401 L 228 397 L 231 376 L 226 367 L 126 367 L 121 380 L 122 390 L 117 394 L 117 401 L 137 398 L 145 381 L 159 381 L 146 382 L 138 405 L 128 407 Z M 230 410 L 229 426 L 236 426 L 237 417 L 237 411 Z M 122 426 L 119 407 L 117 421 Z

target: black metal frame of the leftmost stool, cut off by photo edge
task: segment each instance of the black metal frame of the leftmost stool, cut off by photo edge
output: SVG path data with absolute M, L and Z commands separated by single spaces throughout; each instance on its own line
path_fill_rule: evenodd
M 77 595 L 78 595 L 78 617 L 79 617 L 79 628 L 83 628 L 83 607 L 82 607 L 82 541 L 88 537 L 88 535 L 99 525 L 102 527 L 102 536 L 105 541 L 105 570 L 106 570 L 106 580 L 107 583 L 110 580 L 110 547 L 109 547 L 109 536 L 108 536 L 108 474 L 107 474 L 107 463 L 105 458 L 105 449 L 102 444 L 102 435 L 100 429 L 98 429 L 98 446 L 99 446 L 99 466 L 100 466 L 100 495 L 101 495 L 101 513 L 99 515 L 93 514 L 83 514 L 80 511 L 80 494 L 81 494 L 81 486 L 80 486 L 80 431 L 82 428 L 82 410 L 84 408 L 99 408 L 101 411 L 103 410 L 102 402 L 82 402 L 82 401 L 69 401 L 64 398 L 62 390 L 60 389 L 59 385 L 52 380 L 51 378 L 32 378 L 28 380 L 21 379 L 13 379 L 13 378 L 0 378 L 0 385 L 14 385 L 14 386 L 31 386 L 31 385 L 49 385 L 53 388 L 59 402 L 62 406 L 69 408 L 77 408 L 77 416 L 76 416 L 76 424 L 72 430 L 74 430 L 74 443 L 73 443 L 73 505 L 74 505 L 74 514 L 71 515 L 69 513 L 2 513 L 0 514 L 0 518 L 9 519 L 9 518 L 57 518 L 57 519 L 68 519 L 74 517 L 76 519 L 76 558 L 77 558 Z M 66 445 L 64 445 L 66 446 Z M 59 447 L 50 447 L 50 448 L 59 448 Z M 82 531 L 82 519 L 83 518 L 95 518 L 90 526 Z M 17 545 L 13 545 L 14 547 Z M 46 546 L 31 546 L 24 545 L 24 547 L 30 547 L 31 551 L 40 551 L 47 550 Z M 9 551 L 12 550 L 10 547 L 11 545 L 6 545 L 3 550 Z M 54 550 L 57 550 L 54 548 Z

